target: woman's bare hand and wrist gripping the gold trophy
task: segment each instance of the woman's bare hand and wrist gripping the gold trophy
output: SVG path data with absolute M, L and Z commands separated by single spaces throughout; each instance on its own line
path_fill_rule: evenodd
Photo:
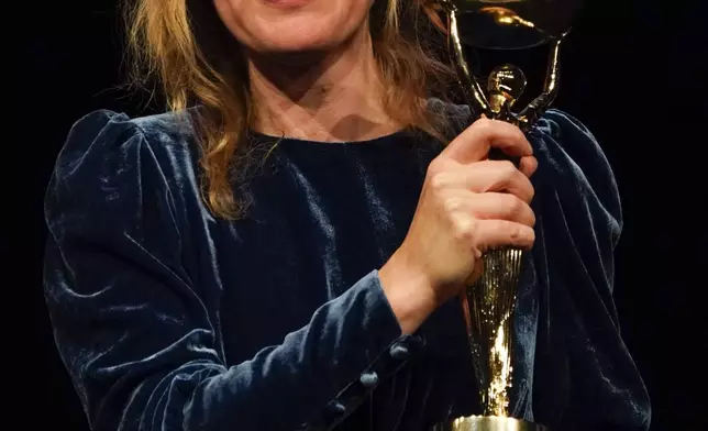
M 521 157 L 489 161 L 491 147 Z M 443 302 L 478 277 L 483 253 L 531 248 L 535 216 L 531 144 L 517 126 L 482 119 L 431 162 L 401 246 L 379 269 L 384 292 L 403 333 L 414 332 Z

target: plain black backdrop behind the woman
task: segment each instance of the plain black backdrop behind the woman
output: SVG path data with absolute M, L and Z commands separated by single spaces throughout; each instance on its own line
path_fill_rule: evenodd
M 9 237 L 20 233 L 10 243 L 23 276 L 9 287 L 22 294 L 16 310 L 22 322 L 12 317 L 13 306 L 5 316 L 26 329 L 20 333 L 26 346 L 3 350 L 13 352 L 3 356 L 14 364 L 5 368 L 11 377 L 21 379 L 10 388 L 20 410 L 10 415 L 24 418 L 23 429 L 46 421 L 62 430 L 87 429 L 44 308 L 42 206 L 54 158 L 73 122 L 98 108 L 132 115 L 150 112 L 144 97 L 128 97 L 117 88 L 124 76 L 115 3 L 26 2 L 24 16 L 31 20 L 12 22 L 13 15 L 5 15 L 7 24 L 20 25 L 12 37 L 21 38 L 18 86 L 7 89 L 19 95 L 10 104 L 19 118 L 19 134 L 5 143 L 16 161 L 5 161 L 5 170 L 19 179 L 12 184 L 21 197 L 20 224 L 10 229 Z M 703 63 L 708 52 L 701 1 L 672 3 L 676 5 L 589 1 L 565 46 L 556 102 L 594 131 L 618 177 L 626 223 L 617 253 L 616 298 L 624 340 L 652 397 L 652 430 L 705 423 L 700 401 L 706 399 L 701 349 L 708 256 L 701 244 L 708 229 L 708 74 Z M 528 70 L 545 62 L 539 49 L 510 55 Z M 532 91 L 542 76 L 530 75 Z M 18 268 L 9 269 L 18 274 Z

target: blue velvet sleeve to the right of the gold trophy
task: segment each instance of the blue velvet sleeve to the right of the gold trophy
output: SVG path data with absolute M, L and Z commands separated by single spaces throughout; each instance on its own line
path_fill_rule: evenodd
M 531 137 L 540 220 L 539 319 L 529 331 L 536 340 L 529 361 L 534 417 L 558 429 L 645 430 L 649 395 L 612 298 L 623 219 L 611 166 L 595 136 L 567 113 L 549 111 Z

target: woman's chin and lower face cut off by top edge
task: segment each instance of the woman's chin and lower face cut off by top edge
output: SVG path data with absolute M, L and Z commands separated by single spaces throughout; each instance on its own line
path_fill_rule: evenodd
M 214 0 L 222 22 L 236 40 L 263 55 L 334 49 L 362 30 L 372 3 L 373 0 Z

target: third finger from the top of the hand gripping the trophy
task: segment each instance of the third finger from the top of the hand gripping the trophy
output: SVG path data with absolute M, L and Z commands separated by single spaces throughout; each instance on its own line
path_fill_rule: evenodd
M 509 194 L 471 194 L 467 209 L 480 220 L 508 220 L 533 228 L 535 214 L 529 203 Z

